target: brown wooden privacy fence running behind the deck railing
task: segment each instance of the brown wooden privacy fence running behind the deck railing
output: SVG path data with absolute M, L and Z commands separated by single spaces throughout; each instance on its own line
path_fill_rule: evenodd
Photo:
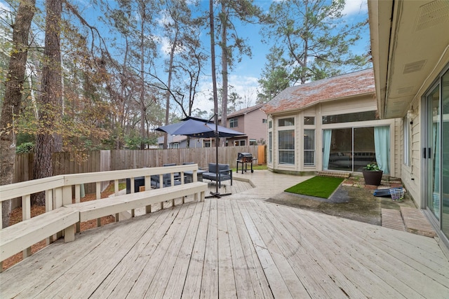
M 264 146 L 228 146 L 218 148 L 218 162 L 236 167 L 237 153 L 251 153 L 257 158 L 255 163 L 265 163 Z M 72 153 L 53 154 L 53 176 L 60 174 L 82 174 L 86 172 L 106 172 L 142 167 L 160 167 L 166 163 L 195 162 L 199 167 L 208 167 L 215 162 L 215 148 L 171 148 L 151 150 L 90 151 L 79 160 Z M 29 181 L 33 175 L 34 154 L 16 155 L 14 182 Z M 102 183 L 107 186 L 107 182 Z M 86 193 L 94 186 L 85 186 Z

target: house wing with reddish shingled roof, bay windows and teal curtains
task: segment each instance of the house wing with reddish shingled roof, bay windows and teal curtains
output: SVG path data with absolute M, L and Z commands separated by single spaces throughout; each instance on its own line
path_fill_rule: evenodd
M 275 172 L 361 172 L 377 162 L 401 174 L 401 119 L 379 119 L 373 69 L 286 88 L 262 110 Z

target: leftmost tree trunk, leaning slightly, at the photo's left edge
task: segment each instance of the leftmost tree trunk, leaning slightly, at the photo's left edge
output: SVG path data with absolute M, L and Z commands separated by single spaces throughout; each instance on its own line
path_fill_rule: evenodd
M 13 183 L 15 168 L 14 113 L 22 102 L 23 82 L 28 54 L 29 28 L 34 16 L 36 0 L 21 1 L 13 25 L 13 50 L 9 60 L 6 90 L 0 118 L 0 185 Z M 2 202 L 2 227 L 9 225 L 11 200 Z

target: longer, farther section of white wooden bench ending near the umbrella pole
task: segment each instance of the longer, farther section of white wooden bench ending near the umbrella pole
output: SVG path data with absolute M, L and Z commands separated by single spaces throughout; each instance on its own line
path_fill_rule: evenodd
M 208 184 L 203 182 L 185 183 L 166 188 L 152 189 L 138 193 L 118 195 L 102 200 L 92 200 L 89 202 L 79 202 L 68 204 L 65 207 L 79 211 L 79 221 L 88 221 L 95 218 L 119 214 L 123 211 L 148 207 L 151 204 L 174 200 L 178 197 L 195 195 L 200 193 L 201 201 L 204 200 Z

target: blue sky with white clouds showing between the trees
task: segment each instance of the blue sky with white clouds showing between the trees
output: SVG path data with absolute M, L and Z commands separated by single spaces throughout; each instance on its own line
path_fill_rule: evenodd
M 262 10 L 268 11 L 268 8 L 272 1 L 278 0 L 255 0 L 255 4 L 260 6 Z M 42 5 L 42 1 L 38 0 L 38 5 Z M 91 22 L 95 22 L 98 18 L 99 13 L 94 11 L 91 6 L 91 2 L 88 0 L 73 0 L 72 3 L 75 3 L 79 6 L 81 14 L 83 18 L 89 20 Z M 201 1 L 201 6 L 204 10 L 208 9 L 208 0 Z M 8 5 L 5 4 L 4 0 L 0 0 L 0 9 L 7 8 Z M 347 22 L 361 22 L 368 18 L 368 7 L 366 4 L 366 0 L 347 0 L 347 4 L 344 9 L 344 15 Z M 255 99 L 257 97 L 257 90 L 259 90 L 259 86 L 257 80 L 261 74 L 262 69 L 264 68 L 265 56 L 269 53 L 270 45 L 264 44 L 261 41 L 260 35 L 260 26 L 257 25 L 239 25 L 237 24 L 237 30 L 241 37 L 246 38 L 248 44 L 250 44 L 253 52 L 253 57 L 243 56 L 243 59 L 240 64 L 237 64 L 232 71 L 229 72 L 229 85 L 232 85 L 232 91 L 237 92 L 241 97 L 245 99 L 245 104 L 240 108 L 245 108 L 245 106 L 255 104 Z M 109 36 L 109 32 L 106 31 L 106 27 L 98 24 L 98 29 L 104 30 L 105 32 L 101 32 L 104 36 Z M 208 43 L 209 36 L 208 28 L 204 28 L 204 41 L 205 48 L 209 52 L 210 45 Z M 369 46 L 369 30 L 366 28 L 366 32 L 362 34 L 363 39 L 358 42 L 358 44 L 352 48 L 351 50 L 356 54 L 366 53 L 367 48 Z M 159 46 L 159 51 L 161 55 L 163 55 L 163 45 Z M 219 53 L 218 49 L 215 50 Z M 217 57 L 216 60 L 217 69 L 220 69 L 220 57 Z M 221 79 L 220 79 L 221 80 Z M 204 69 L 203 77 L 201 78 L 200 84 L 200 95 L 199 98 L 196 99 L 196 107 L 201 110 L 210 111 L 213 109 L 213 103 L 208 100 L 212 93 L 212 83 L 210 76 L 210 65 L 208 65 Z M 239 108 L 239 107 L 238 107 Z

